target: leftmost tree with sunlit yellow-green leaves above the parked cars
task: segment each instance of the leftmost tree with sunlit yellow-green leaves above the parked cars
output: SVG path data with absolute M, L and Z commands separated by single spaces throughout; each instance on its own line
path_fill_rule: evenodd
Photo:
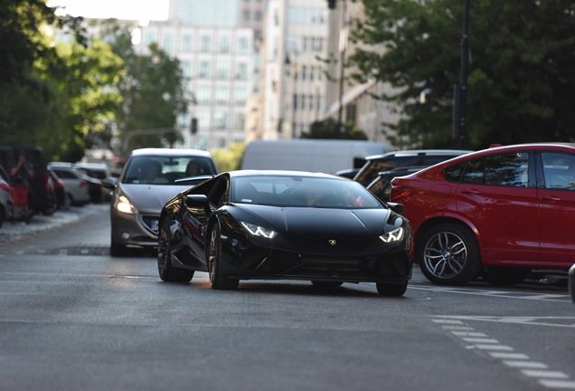
M 77 161 L 119 104 L 122 62 L 108 45 L 88 42 L 82 18 L 54 12 L 44 0 L 0 0 L 0 143 Z M 54 43 L 45 27 L 71 43 Z

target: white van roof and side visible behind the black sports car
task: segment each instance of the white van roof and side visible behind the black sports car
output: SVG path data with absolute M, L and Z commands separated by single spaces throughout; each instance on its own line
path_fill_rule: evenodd
M 287 169 L 336 174 L 362 167 L 365 157 L 391 151 L 383 144 L 362 140 L 255 140 L 241 159 L 241 169 Z

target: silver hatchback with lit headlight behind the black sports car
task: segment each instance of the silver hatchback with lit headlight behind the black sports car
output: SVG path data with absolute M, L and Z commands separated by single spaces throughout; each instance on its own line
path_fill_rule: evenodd
M 193 175 L 186 174 L 189 167 L 197 168 Z M 127 246 L 155 247 L 162 206 L 216 173 L 212 156 L 203 150 L 135 149 L 118 179 L 102 180 L 102 186 L 112 190 L 111 255 L 123 255 Z

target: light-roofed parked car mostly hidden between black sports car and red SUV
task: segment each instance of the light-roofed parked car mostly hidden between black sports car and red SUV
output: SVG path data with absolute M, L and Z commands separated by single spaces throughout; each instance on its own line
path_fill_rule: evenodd
M 468 150 L 457 149 L 413 149 L 388 152 L 384 155 L 365 157 L 365 164 L 353 180 L 368 186 L 382 171 L 397 167 L 431 166 L 453 157 L 465 155 Z

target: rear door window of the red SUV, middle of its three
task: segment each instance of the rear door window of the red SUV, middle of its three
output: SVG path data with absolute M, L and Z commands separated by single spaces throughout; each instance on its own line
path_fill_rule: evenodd
M 529 153 L 515 152 L 485 157 L 485 185 L 527 187 Z

